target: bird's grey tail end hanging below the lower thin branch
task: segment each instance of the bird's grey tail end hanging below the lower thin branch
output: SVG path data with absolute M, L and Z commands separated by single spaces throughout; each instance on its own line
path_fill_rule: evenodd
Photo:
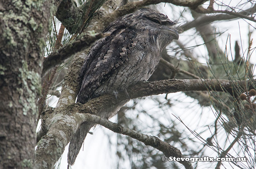
M 74 137 L 72 137 L 68 147 L 68 165 L 73 165 L 76 157 L 83 145 L 84 139 L 91 127 L 95 124 L 90 122 L 84 122 L 80 125 L 80 128 L 76 131 Z

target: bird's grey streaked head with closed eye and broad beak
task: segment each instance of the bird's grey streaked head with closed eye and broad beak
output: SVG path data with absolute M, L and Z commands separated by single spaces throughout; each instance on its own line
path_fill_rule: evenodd
M 175 24 L 176 22 L 172 22 L 160 12 L 152 9 L 138 9 L 111 23 L 107 31 L 131 28 L 142 36 L 144 34 L 145 38 L 150 38 L 149 40 L 162 51 L 173 39 L 179 38 Z

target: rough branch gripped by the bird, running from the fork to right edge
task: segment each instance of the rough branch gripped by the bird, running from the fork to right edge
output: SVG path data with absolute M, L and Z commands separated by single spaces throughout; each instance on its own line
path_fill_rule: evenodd
M 255 86 L 256 81 L 230 81 L 230 80 L 210 80 L 210 79 L 170 79 L 160 80 L 153 82 L 140 82 L 135 85 L 131 85 L 127 92 L 131 99 L 138 97 L 159 95 L 163 93 L 176 93 L 182 91 L 218 91 L 218 92 L 231 92 L 234 87 L 245 88 L 245 84 L 248 84 L 248 88 L 251 89 Z M 79 108 L 75 108 L 72 104 L 71 111 L 80 109 L 84 112 L 97 115 L 102 108 L 108 107 L 113 104 L 118 104 L 128 99 L 128 96 L 124 92 L 120 92 L 118 99 L 113 99 L 112 95 L 103 95 L 88 101 L 86 104 L 80 105 Z M 70 108 L 70 107 L 69 107 Z M 55 122 L 54 122 L 55 123 Z M 49 125 L 51 125 L 49 123 Z M 49 129 L 49 126 L 47 127 Z

